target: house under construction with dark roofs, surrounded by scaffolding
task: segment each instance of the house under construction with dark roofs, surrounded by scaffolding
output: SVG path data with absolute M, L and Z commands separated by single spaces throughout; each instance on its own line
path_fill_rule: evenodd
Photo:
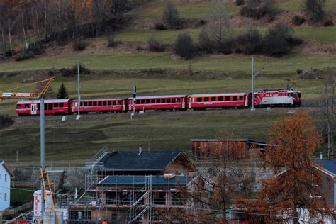
M 86 164 L 86 191 L 68 205 L 69 220 L 156 223 L 162 209 L 183 205 L 196 170 L 179 151 L 110 152 L 105 147 Z

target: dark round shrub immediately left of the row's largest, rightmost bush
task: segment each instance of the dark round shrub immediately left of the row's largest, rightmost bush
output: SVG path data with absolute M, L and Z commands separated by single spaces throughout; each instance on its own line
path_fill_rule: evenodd
M 242 46 L 242 52 L 246 55 L 262 52 L 262 35 L 255 28 L 250 28 L 239 35 L 237 43 Z

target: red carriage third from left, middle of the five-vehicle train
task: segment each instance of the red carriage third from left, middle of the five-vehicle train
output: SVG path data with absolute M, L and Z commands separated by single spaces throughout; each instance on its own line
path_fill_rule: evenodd
M 137 97 L 134 105 L 133 98 L 128 98 L 128 111 L 146 111 L 146 110 L 186 110 L 186 95 L 170 96 L 140 96 Z

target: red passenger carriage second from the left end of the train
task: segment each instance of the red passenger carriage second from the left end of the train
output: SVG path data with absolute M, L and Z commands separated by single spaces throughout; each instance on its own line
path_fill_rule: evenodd
M 127 112 L 126 99 L 88 99 L 81 100 L 80 113 L 89 112 Z M 78 101 L 72 101 L 72 113 L 78 112 Z

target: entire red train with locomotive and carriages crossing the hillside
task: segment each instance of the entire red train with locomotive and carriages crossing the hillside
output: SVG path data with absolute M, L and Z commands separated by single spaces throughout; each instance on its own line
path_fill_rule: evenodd
M 45 114 L 66 115 L 77 113 L 78 101 L 72 99 L 45 100 Z M 206 110 L 206 108 L 250 108 L 252 93 L 233 94 L 195 94 L 169 96 L 140 96 L 120 99 L 87 99 L 79 106 L 80 113 L 116 112 L 147 110 L 175 110 L 188 109 Z M 293 90 L 263 90 L 254 93 L 254 106 L 300 106 L 301 92 Z M 40 101 L 18 101 L 16 113 L 19 116 L 40 114 Z

